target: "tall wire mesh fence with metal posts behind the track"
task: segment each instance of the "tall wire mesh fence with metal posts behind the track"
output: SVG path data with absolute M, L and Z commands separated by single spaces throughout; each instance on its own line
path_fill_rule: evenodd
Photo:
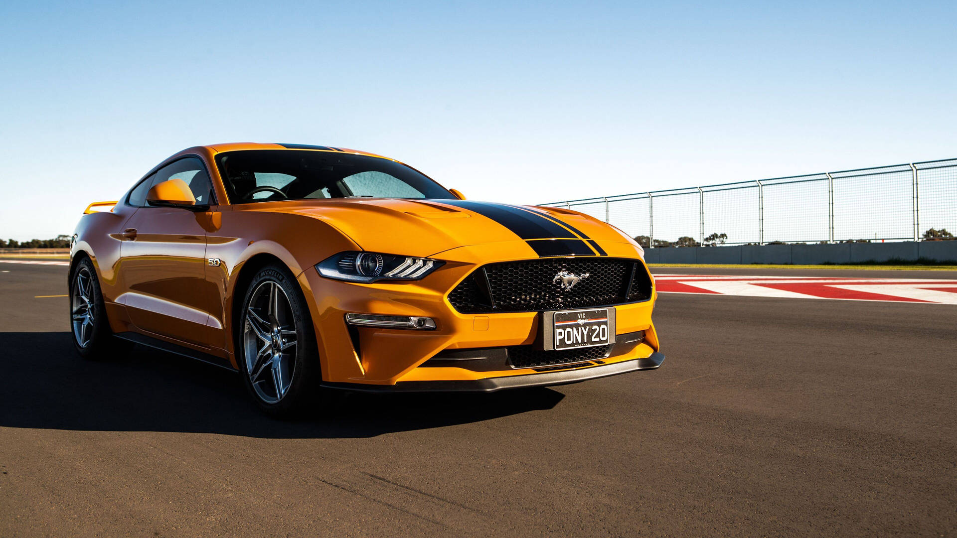
M 644 246 L 954 238 L 957 159 L 551 202 Z

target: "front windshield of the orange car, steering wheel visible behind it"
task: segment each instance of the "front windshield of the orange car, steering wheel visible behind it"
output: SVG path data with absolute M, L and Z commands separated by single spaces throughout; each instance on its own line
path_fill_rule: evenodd
M 444 198 L 452 192 L 389 159 L 302 149 L 247 149 L 216 155 L 234 204 L 323 198 Z

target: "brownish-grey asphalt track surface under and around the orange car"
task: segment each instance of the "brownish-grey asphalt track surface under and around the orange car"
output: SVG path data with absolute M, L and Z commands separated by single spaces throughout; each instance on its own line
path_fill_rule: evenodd
M 957 529 L 954 305 L 662 295 L 659 370 L 287 423 L 226 370 L 81 361 L 66 298 L 35 298 L 66 269 L 0 270 L 0 536 Z M 775 271 L 819 274 L 739 274 Z

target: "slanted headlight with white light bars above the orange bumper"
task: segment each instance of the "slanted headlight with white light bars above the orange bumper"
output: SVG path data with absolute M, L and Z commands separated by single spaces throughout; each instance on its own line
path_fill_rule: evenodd
M 347 251 L 326 258 L 316 270 L 325 278 L 350 282 L 420 280 L 443 263 L 438 259 Z

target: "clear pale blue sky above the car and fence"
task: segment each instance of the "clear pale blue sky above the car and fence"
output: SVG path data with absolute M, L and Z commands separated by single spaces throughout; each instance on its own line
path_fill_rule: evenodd
M 0 236 L 217 142 L 541 203 L 957 156 L 954 2 L 5 2 Z

